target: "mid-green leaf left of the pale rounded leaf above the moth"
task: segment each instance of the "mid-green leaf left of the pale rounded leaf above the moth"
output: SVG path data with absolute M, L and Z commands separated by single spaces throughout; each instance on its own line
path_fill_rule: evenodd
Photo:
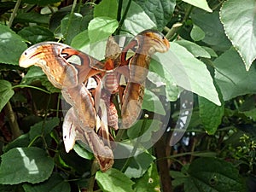
M 83 16 L 74 13 L 72 17 L 70 15 L 66 15 L 61 20 L 61 33 L 63 37 L 65 38 L 66 44 L 71 44 L 72 39 L 79 34 L 79 32 L 82 32 L 81 25 L 82 25 Z

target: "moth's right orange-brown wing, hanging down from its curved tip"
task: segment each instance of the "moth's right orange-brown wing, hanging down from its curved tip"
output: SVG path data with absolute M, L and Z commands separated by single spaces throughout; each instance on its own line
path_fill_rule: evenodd
M 154 30 L 140 32 L 131 43 L 127 45 L 121 55 L 125 60 L 125 52 L 128 49 L 135 51 L 129 59 L 129 78 L 125 88 L 122 103 L 122 127 L 129 128 L 134 124 L 141 113 L 145 80 L 148 75 L 150 58 L 155 52 L 166 52 L 169 49 L 169 42 L 163 34 Z M 125 65 L 127 60 L 124 61 Z

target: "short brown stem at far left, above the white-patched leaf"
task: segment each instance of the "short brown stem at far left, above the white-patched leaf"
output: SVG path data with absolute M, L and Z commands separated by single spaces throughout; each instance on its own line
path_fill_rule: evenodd
M 13 139 L 20 137 L 20 128 L 16 119 L 15 112 L 10 104 L 10 102 L 7 102 L 5 107 L 3 108 L 5 115 L 7 116 L 9 120 L 9 126 L 11 128 Z

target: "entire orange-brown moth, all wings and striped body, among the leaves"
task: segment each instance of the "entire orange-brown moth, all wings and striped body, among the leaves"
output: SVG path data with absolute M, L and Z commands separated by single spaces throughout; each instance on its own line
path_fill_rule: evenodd
M 127 58 L 130 49 L 134 55 Z M 20 56 L 20 67 L 41 67 L 72 106 L 63 122 L 66 151 L 73 148 L 76 140 L 88 143 L 102 171 L 107 171 L 113 166 L 113 146 L 109 143 L 113 137 L 109 129 L 119 129 L 113 97 L 119 94 L 121 126 L 129 128 L 141 113 L 150 57 L 167 49 L 169 42 L 154 30 L 139 33 L 123 50 L 113 37 L 108 38 L 104 62 L 66 44 L 44 42 L 26 49 Z M 73 55 L 80 64 L 68 61 Z M 119 86 L 122 75 L 127 81 L 125 90 Z M 85 86 L 90 77 L 97 82 L 94 90 Z

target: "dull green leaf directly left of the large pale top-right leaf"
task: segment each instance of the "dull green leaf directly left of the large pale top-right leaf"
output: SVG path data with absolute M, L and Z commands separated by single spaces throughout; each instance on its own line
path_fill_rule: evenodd
M 191 13 L 191 18 L 194 25 L 199 26 L 205 32 L 203 42 L 212 46 L 214 50 L 229 49 L 230 40 L 224 33 L 224 27 L 221 24 L 218 16 L 218 11 L 212 14 L 200 9 L 194 9 Z

